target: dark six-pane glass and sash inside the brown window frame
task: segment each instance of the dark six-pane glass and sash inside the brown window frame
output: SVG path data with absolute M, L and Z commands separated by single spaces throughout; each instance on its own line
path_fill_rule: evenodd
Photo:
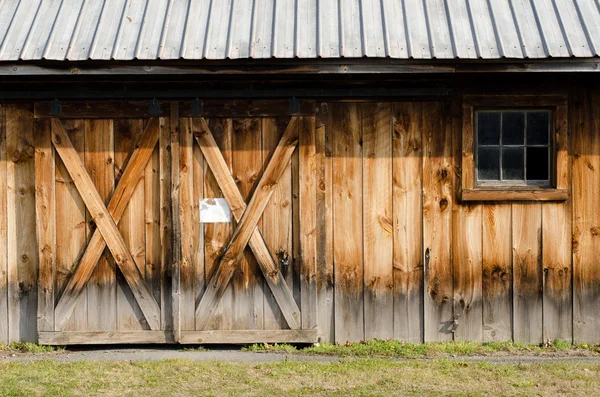
M 552 112 L 477 110 L 478 186 L 551 186 Z

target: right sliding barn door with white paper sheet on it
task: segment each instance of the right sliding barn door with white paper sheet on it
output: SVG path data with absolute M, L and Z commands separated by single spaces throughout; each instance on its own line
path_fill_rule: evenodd
M 316 341 L 314 116 L 181 117 L 179 149 L 175 339 Z

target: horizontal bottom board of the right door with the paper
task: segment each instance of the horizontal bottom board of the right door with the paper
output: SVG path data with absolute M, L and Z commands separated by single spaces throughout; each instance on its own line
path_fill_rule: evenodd
M 181 331 L 182 344 L 315 343 L 316 329 Z

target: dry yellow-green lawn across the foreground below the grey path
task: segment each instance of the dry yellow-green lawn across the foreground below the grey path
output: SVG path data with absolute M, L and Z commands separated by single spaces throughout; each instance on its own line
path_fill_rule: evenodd
M 592 364 L 43 360 L 0 364 L 0 396 L 584 396 L 597 393 L 598 379 Z

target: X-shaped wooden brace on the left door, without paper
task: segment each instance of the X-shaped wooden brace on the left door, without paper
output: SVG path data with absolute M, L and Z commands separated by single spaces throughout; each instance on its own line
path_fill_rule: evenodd
M 81 158 L 73 147 L 62 123 L 59 119 L 52 119 L 52 143 L 97 226 L 79 262 L 79 266 L 69 279 L 56 306 L 55 319 L 57 330 L 63 330 L 67 325 L 77 300 L 85 284 L 92 276 L 98 260 L 107 245 L 117 266 L 121 269 L 127 284 L 131 288 L 150 329 L 160 329 L 160 307 L 156 303 L 148 284 L 144 281 L 140 270 L 131 256 L 131 252 L 129 252 L 123 240 L 123 236 L 121 236 L 117 228 L 117 224 L 125 212 L 125 208 L 131 199 L 137 182 L 143 176 L 146 164 L 150 160 L 154 147 L 158 143 L 158 127 L 159 122 L 157 118 L 151 118 L 148 121 L 107 208 L 98 194 L 94 182 L 87 173 Z

